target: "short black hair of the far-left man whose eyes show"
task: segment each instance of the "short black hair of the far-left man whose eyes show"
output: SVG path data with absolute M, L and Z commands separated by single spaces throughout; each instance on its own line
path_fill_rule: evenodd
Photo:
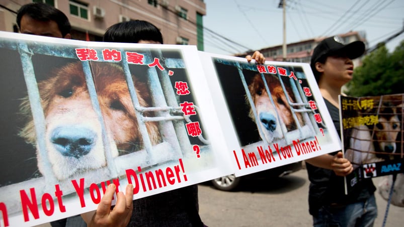
M 54 21 L 59 27 L 62 37 L 70 33 L 70 22 L 60 10 L 45 3 L 30 3 L 22 6 L 17 12 L 17 24 L 21 29 L 21 19 L 24 15 L 37 21 Z

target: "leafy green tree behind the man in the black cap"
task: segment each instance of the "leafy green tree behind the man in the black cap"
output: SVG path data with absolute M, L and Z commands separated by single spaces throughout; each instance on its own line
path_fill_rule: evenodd
M 366 55 L 362 65 L 355 68 L 346 93 L 351 96 L 396 94 L 403 93 L 403 88 L 404 40 L 391 54 L 382 44 Z

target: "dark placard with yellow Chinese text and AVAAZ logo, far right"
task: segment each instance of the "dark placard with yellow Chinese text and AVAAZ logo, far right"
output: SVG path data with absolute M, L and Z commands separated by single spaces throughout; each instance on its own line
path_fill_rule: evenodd
M 387 199 L 392 190 L 391 203 L 404 206 L 404 94 L 341 96 L 340 105 L 344 155 L 355 168 L 346 192 L 361 178 L 383 177 L 379 193 Z

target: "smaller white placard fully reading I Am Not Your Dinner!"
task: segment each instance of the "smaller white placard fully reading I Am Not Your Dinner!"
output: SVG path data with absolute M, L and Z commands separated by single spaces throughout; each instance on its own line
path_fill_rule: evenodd
M 236 142 L 230 145 L 229 152 L 234 158 L 236 176 L 301 161 L 340 147 L 308 64 L 257 65 L 244 58 L 220 55 L 206 58 L 218 75 L 216 89 L 222 94 L 217 96 L 224 97 L 215 99 L 216 106 L 225 106 L 230 113 L 228 117 L 221 115 L 220 122 L 222 128 L 234 129 Z M 208 63 L 204 65 L 209 67 Z

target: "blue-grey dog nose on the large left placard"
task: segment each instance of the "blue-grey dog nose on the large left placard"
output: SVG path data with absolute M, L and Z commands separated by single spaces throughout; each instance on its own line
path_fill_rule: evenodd
M 52 131 L 50 140 L 63 156 L 78 159 L 91 151 L 97 134 L 80 126 L 60 126 Z

